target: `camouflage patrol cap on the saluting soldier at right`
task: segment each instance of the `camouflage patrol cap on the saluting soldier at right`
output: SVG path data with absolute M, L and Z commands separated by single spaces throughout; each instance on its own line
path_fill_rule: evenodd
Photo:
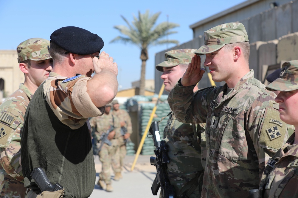
M 248 41 L 247 32 L 242 23 L 224 23 L 204 31 L 205 45 L 195 51 L 196 55 L 215 52 L 225 44 Z

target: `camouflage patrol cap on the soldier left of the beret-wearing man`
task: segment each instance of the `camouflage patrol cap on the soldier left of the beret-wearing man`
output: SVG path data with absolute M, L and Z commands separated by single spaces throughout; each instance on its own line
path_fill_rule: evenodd
M 52 58 L 49 54 L 50 42 L 46 39 L 32 38 L 21 42 L 17 47 L 18 62 L 25 60 L 41 61 Z

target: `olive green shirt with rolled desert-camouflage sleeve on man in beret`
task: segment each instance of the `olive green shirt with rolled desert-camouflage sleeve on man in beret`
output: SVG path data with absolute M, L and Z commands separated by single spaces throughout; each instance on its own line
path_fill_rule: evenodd
M 41 167 L 63 197 L 89 197 L 94 189 L 95 164 L 89 117 L 100 116 L 87 93 L 90 77 L 61 77 L 51 72 L 35 91 L 24 118 L 21 165 L 26 188 L 40 191 L 30 176 Z

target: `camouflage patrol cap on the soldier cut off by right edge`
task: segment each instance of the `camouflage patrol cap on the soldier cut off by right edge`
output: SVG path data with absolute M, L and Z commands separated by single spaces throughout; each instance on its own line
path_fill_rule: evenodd
M 293 91 L 298 89 L 298 60 L 283 63 L 280 76 L 266 86 L 270 91 Z

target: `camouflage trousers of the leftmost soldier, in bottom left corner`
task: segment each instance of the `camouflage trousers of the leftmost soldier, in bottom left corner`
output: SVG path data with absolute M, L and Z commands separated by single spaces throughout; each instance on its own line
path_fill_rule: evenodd
M 0 197 L 2 198 L 24 198 L 26 188 L 24 183 L 12 178 L 0 166 Z

